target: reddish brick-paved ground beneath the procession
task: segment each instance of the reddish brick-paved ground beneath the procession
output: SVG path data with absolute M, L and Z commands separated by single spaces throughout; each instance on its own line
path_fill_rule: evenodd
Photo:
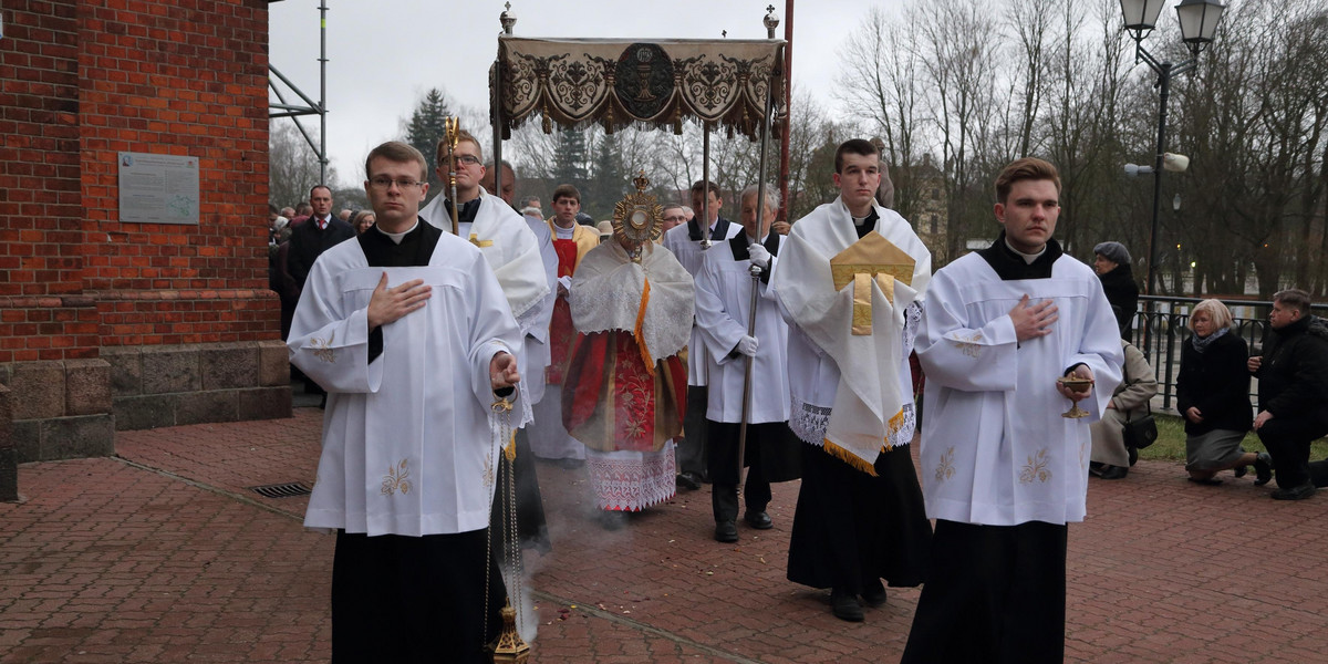
M 328 657 L 332 539 L 303 498 L 316 409 L 291 420 L 124 432 L 120 458 L 25 465 L 27 502 L 0 503 L 0 663 Z M 709 493 L 680 494 L 606 533 L 579 470 L 540 465 L 554 552 L 529 559 L 537 661 L 895 661 L 916 590 L 862 624 L 784 579 L 797 485 L 776 529 L 709 539 Z M 1328 661 L 1328 495 L 1267 498 L 1178 465 L 1139 462 L 1090 487 L 1070 529 L 1069 661 Z

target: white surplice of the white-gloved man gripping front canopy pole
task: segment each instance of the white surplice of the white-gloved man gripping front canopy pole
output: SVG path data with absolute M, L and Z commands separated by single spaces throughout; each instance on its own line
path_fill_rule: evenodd
M 782 246 L 785 238 L 774 236 Z M 770 256 L 769 270 L 774 270 L 778 260 L 778 254 Z M 789 420 L 789 324 L 780 315 L 769 286 L 760 279 L 753 282 L 750 266 L 749 259 L 734 260 L 732 243 L 720 242 L 705 251 L 704 264 L 696 275 L 696 327 L 705 345 L 692 352 L 706 361 L 710 389 L 705 417 L 716 422 L 742 421 L 748 359 L 729 353 L 748 333 L 753 283 L 758 288 L 754 335 L 758 348 L 752 360 L 748 424 Z

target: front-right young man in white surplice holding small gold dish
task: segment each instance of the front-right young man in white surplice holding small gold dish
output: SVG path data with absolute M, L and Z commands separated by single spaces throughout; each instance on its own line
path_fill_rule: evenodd
M 1089 425 L 1123 353 L 1097 275 L 1052 238 L 1060 190 L 1045 161 L 1007 166 L 1003 232 L 931 282 L 916 348 L 936 534 L 906 663 L 1065 656 L 1066 523 L 1084 521 Z M 1057 381 L 1072 374 L 1096 384 L 1073 393 Z M 1062 417 L 1072 401 L 1088 416 Z

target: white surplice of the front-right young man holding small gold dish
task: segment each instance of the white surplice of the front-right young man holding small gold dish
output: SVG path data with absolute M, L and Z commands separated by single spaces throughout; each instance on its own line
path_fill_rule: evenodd
M 1019 343 L 1009 311 L 1050 299 L 1052 333 Z M 927 517 L 1012 526 L 1084 521 L 1089 425 L 1121 380 L 1120 331 L 1101 282 L 1061 255 L 1048 279 L 1001 280 L 980 254 L 932 278 L 918 335 L 927 374 L 922 470 Z M 1078 420 L 1056 378 L 1078 363 L 1096 385 Z

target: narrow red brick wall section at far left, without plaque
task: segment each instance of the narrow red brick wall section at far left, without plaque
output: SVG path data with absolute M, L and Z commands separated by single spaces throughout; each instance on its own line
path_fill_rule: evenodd
M 82 292 L 76 3 L 5 3 L 0 363 L 96 357 Z

